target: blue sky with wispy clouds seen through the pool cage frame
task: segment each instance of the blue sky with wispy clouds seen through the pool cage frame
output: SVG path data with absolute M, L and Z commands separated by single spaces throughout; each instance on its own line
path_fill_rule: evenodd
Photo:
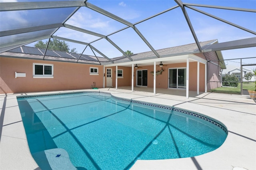
M 4 1 L 6 2 L 7 0 L 0 0 L 0 2 Z M 177 5 L 174 0 L 88 0 L 87 2 L 123 18 L 132 24 Z M 256 10 L 256 0 L 182 0 L 182 2 Z M 256 32 L 256 12 L 242 12 L 203 7 L 194 8 Z M 27 26 L 31 21 L 34 23 L 34 26 L 40 26 L 42 23 L 54 24 L 62 22 L 67 17 L 66 12 L 70 13 L 70 11 L 73 10 L 74 8 L 48 9 L 40 11 L 14 11 L 11 15 L 9 13 L 7 15 L 7 13 L 1 12 L 1 31 L 10 28 L 13 29 L 17 26 L 22 28 L 22 26 Z M 192 9 L 186 8 L 186 11 L 199 42 L 217 39 L 218 42 L 221 43 L 256 37 L 252 33 L 230 26 L 229 24 L 196 12 Z M 6 20 L 12 20 L 13 22 L 6 25 L 4 22 Z M 105 36 L 126 27 L 126 25 L 86 7 L 80 8 L 66 22 L 66 24 L 103 34 Z M 144 38 L 146 38 L 146 40 L 156 50 L 195 43 L 180 7 L 156 16 L 150 20 L 136 24 L 136 28 L 138 28 Z M 45 32 L 41 33 L 44 34 Z M 60 28 L 54 35 L 86 43 L 99 39 L 96 36 L 84 34 L 64 27 Z M 108 36 L 108 38 L 118 45 L 123 51 L 130 50 L 133 53 L 150 51 L 150 48 L 132 28 L 127 28 L 117 32 L 116 34 Z M 2 38 L 1 41 L 4 41 L 4 39 Z M 28 44 L 28 46 L 33 46 L 34 44 L 35 43 L 31 43 Z M 85 45 L 79 45 L 72 42 L 68 42 L 68 45 L 70 46 L 70 49 L 76 48 L 78 53 L 82 53 L 85 48 Z M 109 58 L 122 56 L 122 53 L 105 39 L 93 42 L 91 45 L 96 47 Z M 95 53 L 97 56 L 100 56 L 97 52 Z M 84 54 L 94 55 L 88 47 L 85 49 Z M 222 55 L 224 59 L 256 57 L 256 47 L 224 50 L 222 51 Z M 242 62 L 243 64 L 256 63 L 256 58 L 243 59 Z M 226 61 L 226 64 L 240 65 L 240 60 Z

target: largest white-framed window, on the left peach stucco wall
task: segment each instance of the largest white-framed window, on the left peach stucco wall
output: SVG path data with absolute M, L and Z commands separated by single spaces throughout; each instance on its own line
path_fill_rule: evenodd
M 53 78 L 53 65 L 33 63 L 33 77 Z

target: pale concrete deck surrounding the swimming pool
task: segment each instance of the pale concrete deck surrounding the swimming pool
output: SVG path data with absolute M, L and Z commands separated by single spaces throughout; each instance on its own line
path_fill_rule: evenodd
M 122 88 L 122 87 L 120 87 Z M 80 91 L 105 91 L 116 97 L 142 102 L 174 106 L 201 113 L 220 121 L 226 126 L 228 136 L 220 148 L 191 158 L 166 160 L 138 160 L 132 170 L 232 170 L 256 169 L 256 102 L 246 95 L 227 95 L 190 92 L 188 99 L 174 95 L 172 91 L 150 88 L 86 89 Z M 139 91 L 137 91 L 139 90 Z M 77 92 L 78 90 L 74 91 Z M 41 93 L 19 93 L 0 95 L 0 169 L 1 170 L 39 170 L 32 158 L 16 96 L 46 93 L 65 93 L 73 91 L 54 91 Z M 237 168 L 235 168 L 237 167 Z M 238 168 L 239 167 L 239 168 Z

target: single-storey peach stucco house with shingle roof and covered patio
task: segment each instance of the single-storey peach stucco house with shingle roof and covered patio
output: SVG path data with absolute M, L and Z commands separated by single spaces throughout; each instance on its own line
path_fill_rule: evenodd
M 200 45 L 213 43 L 218 41 Z M 201 53 L 196 43 L 156 51 L 160 57 L 149 51 L 109 59 L 21 46 L 0 53 L 0 93 L 137 86 L 186 89 L 188 97 L 188 91 L 221 86 L 219 73 L 226 66 L 220 51 Z M 154 77 L 154 67 L 164 71 Z

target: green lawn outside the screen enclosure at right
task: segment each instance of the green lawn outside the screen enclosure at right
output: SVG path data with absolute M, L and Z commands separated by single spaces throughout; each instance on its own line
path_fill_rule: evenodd
M 252 90 L 254 85 L 255 85 L 254 82 L 243 83 L 243 89 Z M 210 92 L 240 95 L 241 83 L 238 83 L 238 87 L 219 87 L 219 88 L 210 90 Z

